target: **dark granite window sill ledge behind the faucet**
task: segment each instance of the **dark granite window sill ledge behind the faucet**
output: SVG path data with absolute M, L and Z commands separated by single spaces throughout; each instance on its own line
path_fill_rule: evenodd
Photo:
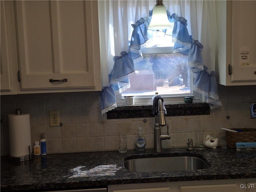
M 210 107 L 207 103 L 182 103 L 164 105 L 166 116 L 189 116 L 189 115 L 209 115 Z M 154 117 L 152 105 L 145 106 L 120 106 L 107 112 L 107 119 L 120 118 L 143 118 Z

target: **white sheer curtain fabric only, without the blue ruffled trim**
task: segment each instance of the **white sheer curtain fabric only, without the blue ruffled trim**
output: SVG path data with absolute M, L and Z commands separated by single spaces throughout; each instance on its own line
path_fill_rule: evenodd
M 164 0 L 170 14 L 184 17 L 188 32 L 204 48 L 202 58 L 208 72 L 215 70 L 216 58 L 216 9 L 215 1 Z M 134 24 L 140 18 L 149 16 L 154 0 L 100 0 L 98 1 L 100 22 L 100 58 L 102 86 L 108 86 L 114 56 L 129 49 Z

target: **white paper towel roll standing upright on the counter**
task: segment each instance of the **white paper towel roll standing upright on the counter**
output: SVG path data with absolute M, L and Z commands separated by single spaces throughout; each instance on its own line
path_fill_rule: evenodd
M 28 146 L 31 146 L 30 115 L 9 114 L 8 122 L 10 156 L 22 157 L 29 155 Z

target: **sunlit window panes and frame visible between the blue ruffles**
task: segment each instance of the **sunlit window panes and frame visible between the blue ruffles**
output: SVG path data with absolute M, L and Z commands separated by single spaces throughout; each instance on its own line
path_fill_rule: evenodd
M 143 60 L 135 61 L 135 72 L 128 75 L 130 88 L 116 96 L 117 105 L 124 106 L 124 96 L 134 96 L 135 105 L 152 104 L 156 93 L 164 98 L 165 104 L 182 103 L 185 96 L 202 101 L 202 96 L 193 92 L 188 56 L 173 53 L 172 36 L 161 30 L 152 33 L 152 38 L 141 46 Z

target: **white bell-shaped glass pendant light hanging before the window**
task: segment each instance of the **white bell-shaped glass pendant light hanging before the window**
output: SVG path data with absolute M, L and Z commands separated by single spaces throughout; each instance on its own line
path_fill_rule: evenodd
M 170 28 L 171 24 L 167 17 L 166 6 L 164 6 L 162 0 L 156 0 L 156 5 L 153 7 L 152 18 L 148 29 L 163 30 Z

